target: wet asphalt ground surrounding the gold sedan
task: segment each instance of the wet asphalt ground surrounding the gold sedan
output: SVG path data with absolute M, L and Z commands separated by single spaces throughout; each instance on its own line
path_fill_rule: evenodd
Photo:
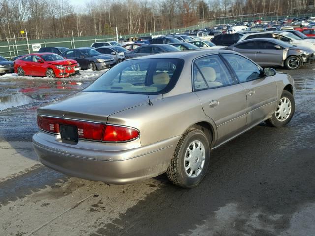
M 108 185 L 38 163 L 36 108 L 83 89 L 103 72 L 65 81 L 0 77 L 0 236 L 314 236 L 315 66 L 293 76 L 288 126 L 263 123 L 211 153 L 196 188 L 161 175 Z

